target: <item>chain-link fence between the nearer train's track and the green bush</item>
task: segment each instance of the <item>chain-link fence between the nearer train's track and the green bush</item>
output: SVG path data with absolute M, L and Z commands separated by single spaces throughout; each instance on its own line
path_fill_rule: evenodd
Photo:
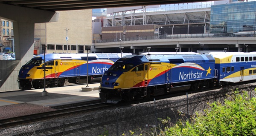
M 208 108 L 207 103 L 229 99 L 234 88 L 220 91 L 207 91 L 187 94 L 169 99 L 131 105 L 98 113 L 73 115 L 11 129 L 0 130 L 0 136 L 130 136 L 143 134 L 149 136 L 163 130 L 165 125 L 160 119 L 167 119 L 175 124 L 179 119 L 189 119 L 196 112 Z M 247 90 L 250 97 L 255 91 Z M 151 135 L 150 135 L 151 136 Z

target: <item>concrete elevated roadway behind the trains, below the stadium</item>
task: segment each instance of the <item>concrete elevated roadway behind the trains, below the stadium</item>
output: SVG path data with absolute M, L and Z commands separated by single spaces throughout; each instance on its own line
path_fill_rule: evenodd
M 151 47 L 150 51 L 174 51 L 179 48 L 179 52 L 204 50 L 224 50 L 243 52 L 256 51 L 255 37 L 207 37 L 207 38 L 179 38 L 179 39 L 158 39 L 158 40 L 131 40 L 122 41 L 123 52 L 137 53 L 138 51 L 146 51 L 147 47 Z M 248 46 L 245 46 L 248 45 Z M 100 51 L 120 51 L 120 42 L 94 43 L 91 50 Z

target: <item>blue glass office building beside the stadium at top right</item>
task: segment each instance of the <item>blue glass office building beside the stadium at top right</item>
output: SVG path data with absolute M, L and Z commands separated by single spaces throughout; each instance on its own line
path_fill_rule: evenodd
M 210 33 L 254 31 L 256 1 L 211 6 Z

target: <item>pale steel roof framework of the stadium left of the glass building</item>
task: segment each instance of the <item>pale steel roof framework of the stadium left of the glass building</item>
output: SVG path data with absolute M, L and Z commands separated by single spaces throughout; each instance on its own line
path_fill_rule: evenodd
M 210 12 L 210 8 L 140 13 L 130 10 L 112 13 L 113 16 L 106 17 L 106 20 L 111 26 L 150 24 L 170 26 L 177 24 L 210 23 Z

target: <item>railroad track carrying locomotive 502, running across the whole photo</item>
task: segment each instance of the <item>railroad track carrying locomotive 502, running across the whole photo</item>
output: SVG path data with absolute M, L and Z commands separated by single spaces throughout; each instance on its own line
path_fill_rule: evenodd
M 250 89 L 254 89 L 255 87 L 256 87 L 255 85 L 251 85 Z M 242 89 L 245 90 L 247 88 L 248 87 L 245 87 Z M 207 89 L 207 90 L 212 90 L 212 89 L 217 89 L 217 88 L 211 88 L 211 89 Z M 199 91 L 199 92 L 201 92 L 201 91 Z M 171 93 L 169 95 L 157 96 L 154 98 L 156 98 L 157 100 L 166 99 L 166 98 L 170 98 L 170 97 L 184 95 L 184 93 L 185 92 Z M 192 92 L 189 92 L 189 93 L 192 93 Z M 196 92 L 193 92 L 193 93 L 196 93 Z M 102 109 L 114 108 L 114 107 L 118 107 L 118 106 L 132 105 L 132 104 L 137 104 L 137 103 L 142 103 L 142 102 L 149 102 L 152 100 L 153 100 L 153 98 L 147 99 L 147 100 L 127 102 L 125 104 L 121 103 L 119 105 L 117 105 L 117 104 L 109 105 L 109 104 L 106 104 L 105 102 L 95 102 L 93 104 L 84 104 L 84 105 L 80 105 L 80 106 L 76 106 L 76 107 L 63 108 L 63 109 L 59 109 L 57 111 L 49 111 L 49 112 L 37 113 L 37 114 L 26 115 L 26 116 L 19 116 L 19 117 L 14 117 L 14 118 L 9 118 L 9 119 L 2 119 L 2 120 L 0 120 L 0 129 L 6 129 L 6 128 L 20 126 L 20 125 L 27 125 L 27 124 L 39 122 L 41 120 L 56 119 L 58 117 L 74 115 L 74 114 L 78 114 L 78 113 L 97 111 L 97 110 L 99 111 Z

